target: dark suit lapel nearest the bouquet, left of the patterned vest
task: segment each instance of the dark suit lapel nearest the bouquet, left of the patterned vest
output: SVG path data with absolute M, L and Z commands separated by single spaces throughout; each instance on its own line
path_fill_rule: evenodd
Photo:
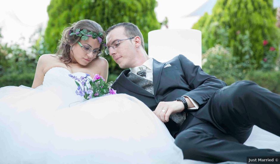
M 149 96 L 149 97 L 154 97 L 153 94 L 151 94 L 150 92 L 146 91 L 145 89 L 141 88 L 140 86 L 138 86 L 135 83 L 133 83 L 132 81 L 130 81 L 126 77 L 128 72 L 130 72 L 129 69 L 124 70 L 121 73 L 121 75 L 116 79 L 116 82 L 119 83 L 119 85 L 121 85 L 123 88 L 128 89 L 128 90 L 130 90 L 132 92 L 135 92 L 137 94 L 145 95 L 145 96 Z

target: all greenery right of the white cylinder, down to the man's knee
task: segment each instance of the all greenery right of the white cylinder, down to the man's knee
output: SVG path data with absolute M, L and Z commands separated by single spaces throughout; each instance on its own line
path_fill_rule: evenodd
M 202 31 L 203 70 L 228 85 L 252 80 L 280 94 L 279 27 L 273 0 L 218 0 L 193 26 Z

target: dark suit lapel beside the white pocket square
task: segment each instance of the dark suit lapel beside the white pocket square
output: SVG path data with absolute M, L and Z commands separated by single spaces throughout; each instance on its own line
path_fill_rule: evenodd
M 154 95 L 156 95 L 156 91 L 158 90 L 159 81 L 161 78 L 161 72 L 164 66 L 164 63 L 160 63 L 153 59 L 153 83 L 154 83 Z

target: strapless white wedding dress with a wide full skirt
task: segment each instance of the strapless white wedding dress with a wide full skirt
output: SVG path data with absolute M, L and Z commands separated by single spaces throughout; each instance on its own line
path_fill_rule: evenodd
M 54 67 L 36 89 L 0 88 L 0 163 L 183 162 L 181 149 L 144 103 L 126 94 L 83 102 L 69 74 Z

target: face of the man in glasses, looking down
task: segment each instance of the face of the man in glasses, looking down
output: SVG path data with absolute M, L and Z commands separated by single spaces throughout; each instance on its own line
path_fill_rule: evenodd
M 125 35 L 124 27 L 116 27 L 111 30 L 106 37 L 106 45 L 109 47 L 109 54 L 112 56 L 113 60 L 119 65 L 120 68 L 132 68 L 135 67 L 137 60 L 136 57 L 136 46 L 135 38 L 127 39 L 128 36 Z M 113 49 L 110 47 L 112 44 L 115 45 L 118 40 L 127 39 L 119 41 L 119 45 Z

